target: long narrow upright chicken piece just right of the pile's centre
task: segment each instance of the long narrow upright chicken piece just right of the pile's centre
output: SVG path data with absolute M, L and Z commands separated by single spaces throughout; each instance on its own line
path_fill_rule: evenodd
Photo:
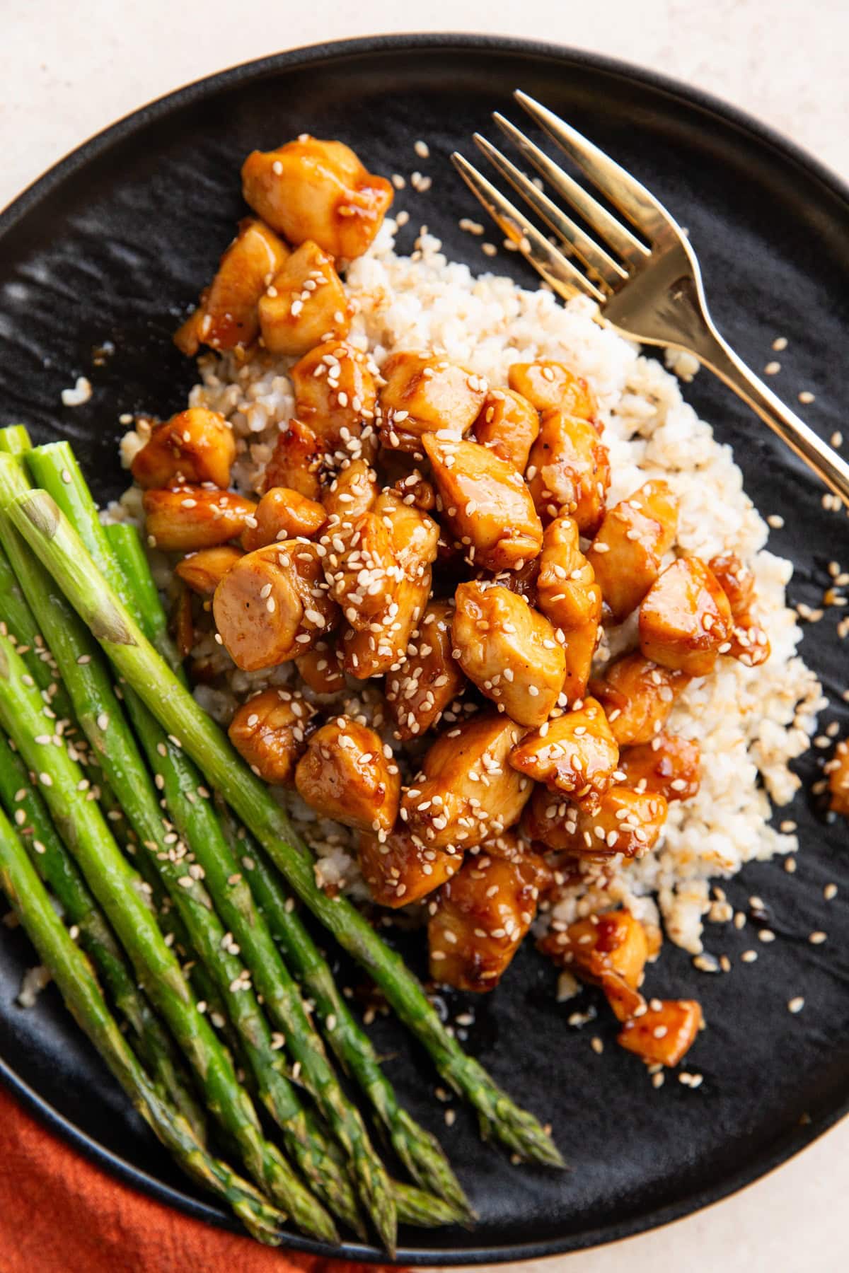
M 537 601 L 542 614 L 565 636 L 563 693 L 572 704 L 587 693 L 602 608 L 601 588 L 580 551 L 578 523 L 572 517 L 556 517 L 549 523 L 538 561 Z

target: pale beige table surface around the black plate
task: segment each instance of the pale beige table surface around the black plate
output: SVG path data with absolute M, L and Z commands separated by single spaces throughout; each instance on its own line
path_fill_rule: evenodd
M 281 48 L 388 31 L 503 32 L 622 57 L 727 98 L 849 178 L 846 0 L 430 0 L 415 10 L 388 0 L 0 0 L 0 206 L 90 134 L 181 84 Z M 689 1220 L 523 1268 L 838 1273 L 849 1269 L 848 1193 L 845 1122 Z

